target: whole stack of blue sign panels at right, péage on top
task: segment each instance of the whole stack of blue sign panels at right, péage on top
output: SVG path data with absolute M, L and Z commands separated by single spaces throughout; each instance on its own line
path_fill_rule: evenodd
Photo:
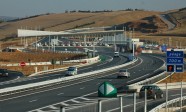
M 183 72 L 183 51 L 167 51 L 167 72 Z

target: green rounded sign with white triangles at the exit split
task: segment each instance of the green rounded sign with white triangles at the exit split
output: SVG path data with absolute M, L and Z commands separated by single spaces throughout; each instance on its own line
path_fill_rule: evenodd
M 110 83 L 104 82 L 98 88 L 99 97 L 117 97 L 117 89 Z

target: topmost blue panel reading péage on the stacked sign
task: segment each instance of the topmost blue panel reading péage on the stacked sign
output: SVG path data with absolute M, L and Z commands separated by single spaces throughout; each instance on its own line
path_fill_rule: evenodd
M 183 51 L 167 51 L 167 58 L 183 58 Z

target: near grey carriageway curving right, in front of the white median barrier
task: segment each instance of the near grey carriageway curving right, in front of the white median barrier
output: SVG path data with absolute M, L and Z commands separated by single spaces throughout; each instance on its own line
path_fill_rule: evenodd
M 108 81 L 116 87 L 134 83 L 155 75 L 153 71 L 161 67 L 163 63 L 164 62 L 159 58 L 155 58 L 150 55 L 141 55 L 139 56 L 139 61 L 136 64 L 127 67 L 131 73 L 131 78 L 129 79 L 117 79 L 116 70 L 109 73 L 103 73 L 102 75 L 99 75 L 99 77 L 93 77 L 91 79 L 76 80 L 50 88 L 4 96 L 1 97 L 0 100 L 0 111 L 25 112 L 38 108 L 40 108 L 39 110 L 51 111 L 59 108 L 59 102 L 61 102 L 60 105 L 68 105 L 70 108 L 71 104 L 76 104 L 78 102 L 81 104 L 87 99 L 96 101 L 97 89 L 102 82 Z M 74 98 L 77 99 L 72 100 Z M 65 101 L 69 102 L 63 103 Z M 55 105 L 51 106 L 51 104 Z

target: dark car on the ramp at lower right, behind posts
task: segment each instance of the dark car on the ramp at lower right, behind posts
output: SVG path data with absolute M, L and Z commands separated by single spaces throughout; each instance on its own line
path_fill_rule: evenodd
M 145 96 L 145 89 L 147 92 L 147 98 L 163 98 L 163 91 L 157 85 L 142 86 L 139 92 L 139 98 L 143 98 Z

